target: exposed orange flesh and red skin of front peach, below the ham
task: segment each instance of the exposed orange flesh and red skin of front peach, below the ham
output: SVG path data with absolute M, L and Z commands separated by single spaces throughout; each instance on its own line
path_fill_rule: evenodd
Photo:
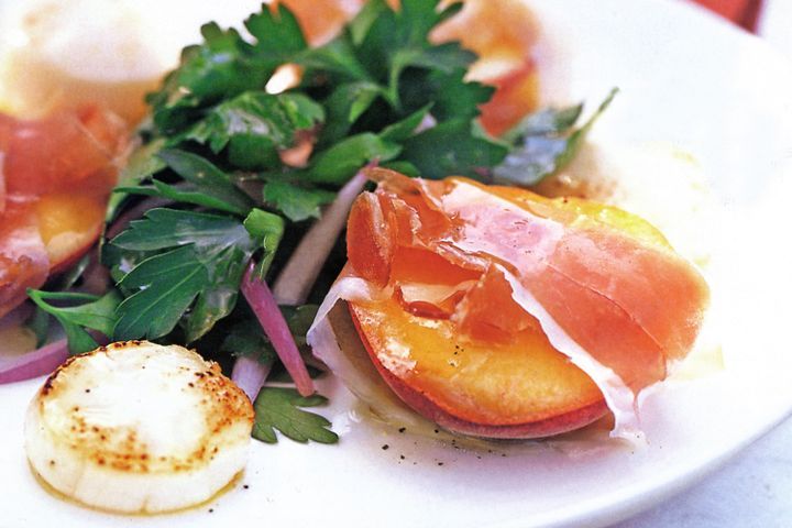
M 349 304 L 349 310 L 391 389 L 446 429 L 483 438 L 541 438 L 607 414 L 591 378 L 534 329 L 513 343 L 488 345 L 461 340 L 450 321 L 426 328 L 394 300 Z M 407 349 L 415 363 L 394 367 Z

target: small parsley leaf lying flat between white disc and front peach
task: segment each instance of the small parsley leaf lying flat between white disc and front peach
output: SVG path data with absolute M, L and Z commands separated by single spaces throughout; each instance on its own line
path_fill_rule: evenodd
M 319 443 L 336 443 L 338 435 L 330 430 L 330 421 L 323 416 L 302 410 L 300 407 L 316 407 L 327 404 L 319 394 L 302 397 L 294 388 L 264 387 L 255 400 L 253 438 L 266 443 L 276 443 L 275 429 L 297 442 L 309 440 Z

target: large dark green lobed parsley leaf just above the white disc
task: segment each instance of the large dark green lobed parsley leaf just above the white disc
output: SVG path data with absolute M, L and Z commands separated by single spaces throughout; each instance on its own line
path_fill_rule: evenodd
M 136 292 L 118 308 L 117 339 L 165 336 L 196 300 L 186 316 L 188 343 L 233 310 L 245 265 L 258 248 L 239 220 L 175 209 L 148 211 L 111 244 L 131 251 L 177 248 L 144 260 L 119 282 L 119 287 Z

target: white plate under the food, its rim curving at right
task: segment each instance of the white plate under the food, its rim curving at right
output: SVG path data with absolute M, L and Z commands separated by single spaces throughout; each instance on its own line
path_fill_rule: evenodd
M 695 153 L 728 208 L 713 232 L 727 242 L 715 292 L 727 308 L 725 369 L 646 399 L 648 447 L 560 440 L 457 449 L 358 421 L 349 394 L 330 382 L 322 391 L 340 444 L 255 444 L 242 482 L 210 504 L 112 516 L 59 501 L 34 481 L 22 449 L 24 409 L 41 383 L 32 381 L 0 387 L 0 526 L 601 526 L 681 491 L 787 416 L 792 258 L 780 208 L 782 191 L 792 196 L 792 68 L 758 40 L 678 2 L 532 3 L 564 51 L 568 97 L 622 88 L 597 133 L 670 140 Z

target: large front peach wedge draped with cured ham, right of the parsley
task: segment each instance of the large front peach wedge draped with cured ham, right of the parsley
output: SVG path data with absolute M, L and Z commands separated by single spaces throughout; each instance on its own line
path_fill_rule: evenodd
M 519 438 L 562 432 L 604 398 L 614 435 L 638 431 L 636 395 L 690 351 L 708 302 L 703 277 L 661 233 L 585 200 L 369 175 L 378 188 L 352 209 L 349 263 L 326 304 L 350 301 L 372 361 L 403 400 L 461 432 Z M 464 349 L 468 366 L 440 373 L 442 361 L 429 358 L 440 352 L 422 346 L 442 350 L 443 339 L 427 328 L 446 332 L 455 355 Z M 537 365 L 541 376 L 530 372 Z M 548 399 L 551 391 L 566 394 Z M 531 395 L 549 403 L 525 402 Z M 560 416 L 559 430 L 527 427 Z

